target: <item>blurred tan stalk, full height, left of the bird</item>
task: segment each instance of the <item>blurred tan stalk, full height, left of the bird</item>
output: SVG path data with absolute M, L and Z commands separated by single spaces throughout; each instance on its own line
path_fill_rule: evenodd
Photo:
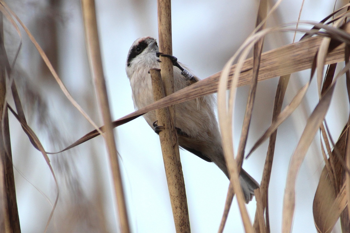
M 118 163 L 117 148 L 114 141 L 112 118 L 107 96 L 107 88 L 102 68 L 102 58 L 98 41 L 96 9 L 94 0 L 82 0 L 86 49 L 90 63 L 90 70 L 94 80 L 104 122 L 105 141 L 113 176 L 114 192 L 118 205 L 118 216 L 122 233 L 129 233 L 129 222 L 125 204 L 123 184 Z

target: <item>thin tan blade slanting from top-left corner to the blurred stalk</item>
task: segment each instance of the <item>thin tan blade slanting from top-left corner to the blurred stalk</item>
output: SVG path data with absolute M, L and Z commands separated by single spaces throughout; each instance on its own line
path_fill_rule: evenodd
M 85 113 L 85 111 L 80 107 L 80 105 L 73 99 L 69 91 L 66 89 L 65 85 L 63 84 L 62 80 L 58 77 L 55 69 L 52 67 L 48 57 L 44 53 L 43 49 L 40 47 L 40 45 L 35 40 L 34 36 L 30 33 L 29 29 L 26 27 L 26 25 L 19 19 L 19 17 L 7 6 L 7 4 L 0 0 L 0 4 L 3 5 L 8 12 L 19 22 L 19 24 L 22 26 L 22 28 L 26 31 L 30 41 L 35 45 L 35 48 L 38 50 L 40 56 L 43 58 L 45 64 L 49 68 L 52 76 L 55 78 L 56 82 L 58 83 L 59 87 L 61 88 L 64 95 L 67 97 L 67 99 L 72 103 L 74 107 L 77 108 L 77 110 L 85 117 L 85 119 L 94 127 L 97 131 L 99 131 L 100 134 L 103 134 L 102 131 L 100 131 L 99 127 L 93 122 L 93 120 Z

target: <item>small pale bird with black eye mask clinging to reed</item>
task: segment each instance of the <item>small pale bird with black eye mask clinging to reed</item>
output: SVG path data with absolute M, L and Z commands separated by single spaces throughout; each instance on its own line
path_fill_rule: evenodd
M 160 53 L 154 38 L 150 36 L 138 38 L 131 45 L 126 60 L 126 74 L 130 80 L 135 109 L 140 109 L 154 102 L 149 69 L 160 68 L 159 56 L 170 57 L 176 66 L 174 67 L 175 91 L 199 80 L 183 64 L 177 62 L 177 58 Z M 214 162 L 229 178 L 214 109 L 215 98 L 213 95 L 175 105 L 175 127 L 179 146 L 205 161 Z M 144 118 L 155 132 L 159 132 L 155 111 L 146 113 Z M 259 184 L 243 169 L 241 169 L 239 181 L 245 201 L 248 203 L 254 196 L 254 189 L 259 188 Z

